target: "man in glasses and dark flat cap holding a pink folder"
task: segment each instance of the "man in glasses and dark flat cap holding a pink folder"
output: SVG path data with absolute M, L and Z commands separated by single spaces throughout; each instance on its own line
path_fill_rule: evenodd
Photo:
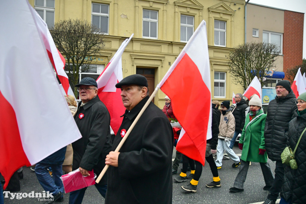
M 80 93 L 81 102 L 74 119 L 82 138 L 72 143 L 73 170 L 80 169 L 83 176 L 94 170 L 99 175 L 105 166 L 106 155 L 111 150 L 110 114 L 97 96 L 97 82 L 85 77 L 75 85 Z M 95 184 L 99 193 L 105 198 L 107 175 Z M 70 203 L 82 203 L 86 188 L 70 192 Z

